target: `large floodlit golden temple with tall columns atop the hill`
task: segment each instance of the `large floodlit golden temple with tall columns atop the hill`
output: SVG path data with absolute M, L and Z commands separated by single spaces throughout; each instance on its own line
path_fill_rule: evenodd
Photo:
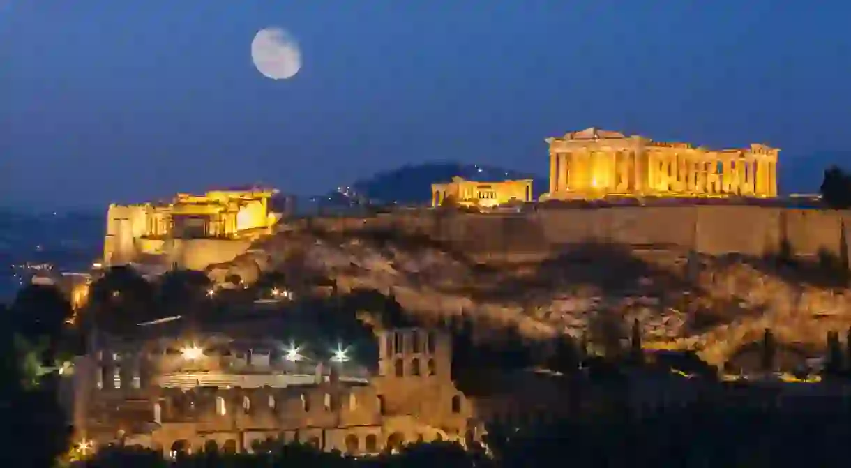
M 780 150 L 765 145 L 714 151 L 593 127 L 545 141 L 550 191 L 542 200 L 777 197 Z

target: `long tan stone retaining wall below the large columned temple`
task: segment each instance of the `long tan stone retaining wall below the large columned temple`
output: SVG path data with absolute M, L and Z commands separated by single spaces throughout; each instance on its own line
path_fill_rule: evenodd
M 480 261 L 551 257 L 583 243 L 703 254 L 842 256 L 851 212 L 760 206 L 541 208 L 523 214 L 421 210 L 320 218 L 333 231 L 392 228 L 442 240 Z M 846 231 L 844 234 L 842 231 Z

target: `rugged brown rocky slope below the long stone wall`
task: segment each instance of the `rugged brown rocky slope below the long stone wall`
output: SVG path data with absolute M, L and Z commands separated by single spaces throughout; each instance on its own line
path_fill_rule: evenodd
M 771 328 L 780 344 L 814 356 L 829 330 L 851 326 L 851 294 L 836 275 L 779 260 L 708 258 L 582 245 L 527 265 L 474 265 L 425 238 L 281 232 L 214 277 L 260 271 L 327 277 L 341 291 L 392 294 L 420 321 L 466 314 L 515 327 L 528 339 L 557 334 L 592 343 L 626 337 L 640 322 L 646 346 L 691 349 L 722 364 Z M 306 273 L 310 274 L 306 274 Z

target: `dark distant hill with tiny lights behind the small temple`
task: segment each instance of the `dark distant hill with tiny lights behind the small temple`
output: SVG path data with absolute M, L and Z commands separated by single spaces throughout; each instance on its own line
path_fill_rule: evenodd
M 505 168 L 461 163 L 424 163 L 403 166 L 391 171 L 357 180 L 340 187 L 323 198 L 324 203 L 347 203 L 350 200 L 368 200 L 374 203 L 422 204 L 431 201 L 431 184 L 448 182 L 454 176 L 466 180 L 532 179 L 534 197 L 545 191 L 548 181 L 533 174 Z M 321 198 L 321 197 L 320 197 Z

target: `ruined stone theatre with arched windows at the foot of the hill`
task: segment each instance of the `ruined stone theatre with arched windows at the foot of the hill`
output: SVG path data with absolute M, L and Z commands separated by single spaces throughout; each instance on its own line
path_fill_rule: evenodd
M 186 362 L 186 352 L 180 356 L 158 346 L 153 361 L 151 348 L 136 353 L 93 351 L 77 362 L 74 375 L 76 437 L 100 444 L 121 438 L 129 445 L 162 449 L 166 455 L 211 444 L 252 451 L 272 440 L 376 454 L 408 442 L 478 440 L 484 418 L 496 414 L 519 420 L 525 414 L 544 414 L 547 407 L 557 414 L 557 402 L 565 395 L 551 385 L 550 391 L 529 398 L 527 406 L 509 402 L 494 388 L 477 403 L 454 384 L 448 335 L 391 329 L 377 334 L 377 345 L 379 371 L 368 379 L 346 379 L 339 371 L 306 380 L 297 373 L 272 379 L 262 353 L 248 358 L 254 360 L 254 369 L 240 376 L 233 363 L 243 359 L 238 352 L 229 353 L 226 365 L 221 360 L 213 368 L 200 364 L 216 346 L 193 355 L 194 363 Z M 265 380 L 258 366 L 265 366 Z M 208 375 L 215 372 L 230 374 L 230 380 L 210 380 Z M 172 386 L 163 386 L 166 374 Z M 197 380 L 194 385 L 174 385 L 175 374 Z

